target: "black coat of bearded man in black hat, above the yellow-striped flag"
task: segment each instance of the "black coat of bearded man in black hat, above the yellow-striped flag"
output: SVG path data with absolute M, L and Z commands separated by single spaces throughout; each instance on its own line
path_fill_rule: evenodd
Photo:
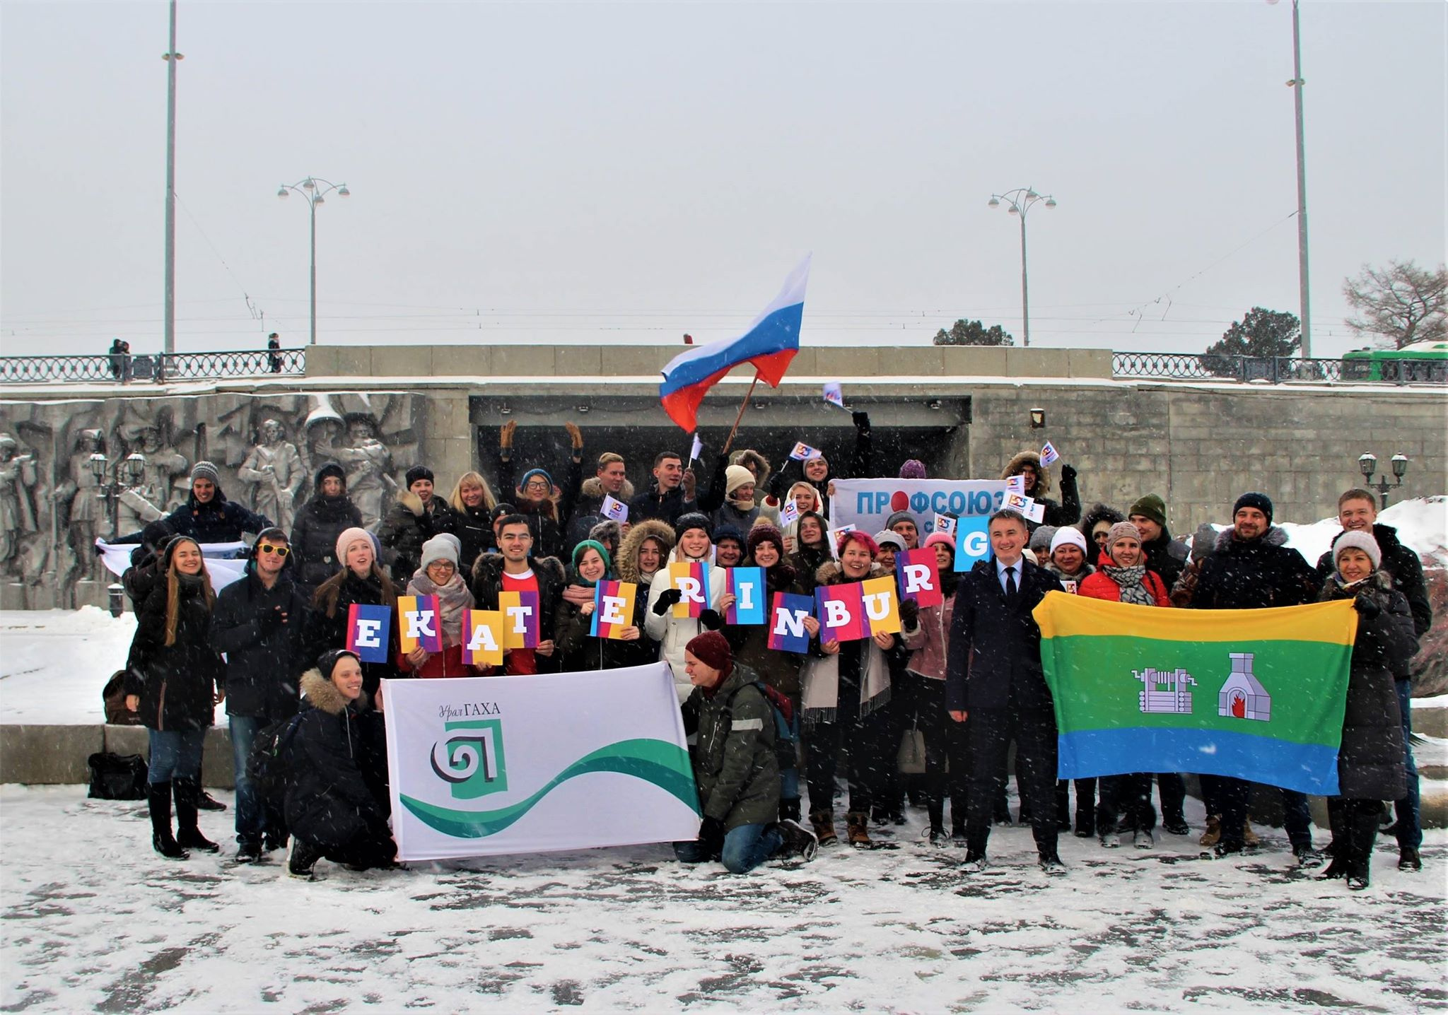
M 1221 531 L 1216 549 L 1202 563 L 1192 608 L 1266 610 L 1312 602 L 1322 579 L 1286 542 L 1287 534 L 1277 527 L 1245 542 L 1232 528 Z

